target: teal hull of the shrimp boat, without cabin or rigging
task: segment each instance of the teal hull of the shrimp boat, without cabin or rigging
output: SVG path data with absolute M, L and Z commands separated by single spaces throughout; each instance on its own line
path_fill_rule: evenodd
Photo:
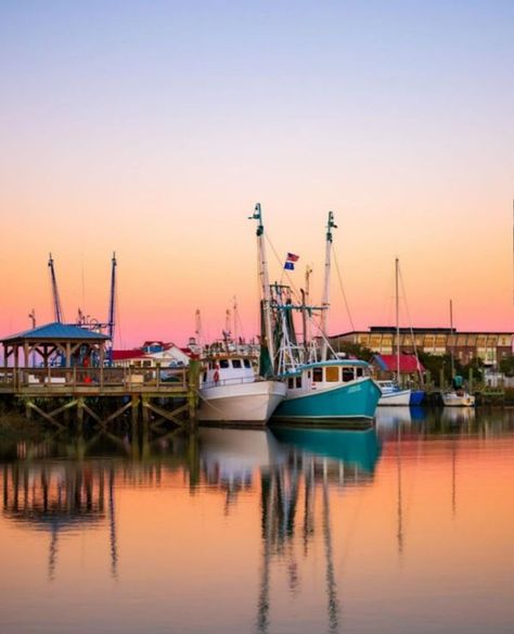
M 339 383 L 320 391 L 287 394 L 273 414 L 274 420 L 368 420 L 375 415 L 382 392 L 372 379 Z

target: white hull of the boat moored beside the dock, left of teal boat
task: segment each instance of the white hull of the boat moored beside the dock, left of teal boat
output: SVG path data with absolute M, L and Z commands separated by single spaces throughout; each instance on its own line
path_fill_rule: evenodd
M 266 423 L 284 398 L 285 383 L 253 381 L 200 390 L 202 422 Z

